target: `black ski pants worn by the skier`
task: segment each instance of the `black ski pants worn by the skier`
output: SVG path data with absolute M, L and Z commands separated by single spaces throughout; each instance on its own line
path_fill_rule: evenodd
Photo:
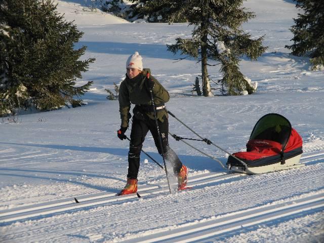
M 165 154 L 166 160 L 168 160 L 173 166 L 174 174 L 178 174 L 182 167 L 182 163 L 178 155 L 170 148 L 168 141 L 168 132 L 169 132 L 169 121 L 168 118 L 164 117 L 164 121 L 161 122 L 157 120 L 158 127 L 161 135 L 163 152 Z M 145 136 L 151 132 L 155 146 L 158 150 L 158 153 L 162 155 L 160 149 L 159 136 L 157 133 L 157 128 L 155 120 L 145 117 L 145 119 L 137 119 L 133 117 L 132 131 L 131 131 L 131 142 L 130 142 L 130 151 L 128 153 L 128 175 L 127 178 L 137 179 L 138 170 L 140 167 L 140 154 L 145 140 Z

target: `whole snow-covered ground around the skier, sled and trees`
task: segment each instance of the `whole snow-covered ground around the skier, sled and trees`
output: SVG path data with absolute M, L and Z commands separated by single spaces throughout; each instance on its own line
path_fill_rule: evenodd
M 285 49 L 297 16 L 292 1 L 248 0 L 257 17 L 244 24 L 265 34 L 269 49 L 241 71 L 257 81 L 248 96 L 197 97 L 190 90 L 200 64 L 174 62 L 166 44 L 190 36 L 187 24 L 135 24 L 100 11 L 83 11 L 82 0 L 58 1 L 58 11 L 85 32 L 77 46 L 95 57 L 78 84 L 93 80 L 87 106 L 0 120 L 1 242 L 323 242 L 324 72 L 309 71 L 306 58 Z M 228 174 L 216 161 L 170 138 L 189 168 L 194 188 L 169 194 L 163 170 L 141 156 L 139 193 L 115 197 L 124 187 L 128 142 L 116 137 L 118 102 L 106 100 L 125 75 L 134 51 L 171 93 L 168 109 L 202 137 L 227 151 L 245 149 L 257 120 L 286 116 L 303 138 L 305 167 L 263 175 Z M 218 79 L 217 68 L 209 73 Z M 170 117 L 170 131 L 196 138 Z M 130 131 L 127 132 L 129 135 Z M 223 164 L 227 154 L 190 142 Z M 159 163 L 150 134 L 143 149 Z M 74 202 L 76 197 L 80 204 Z

